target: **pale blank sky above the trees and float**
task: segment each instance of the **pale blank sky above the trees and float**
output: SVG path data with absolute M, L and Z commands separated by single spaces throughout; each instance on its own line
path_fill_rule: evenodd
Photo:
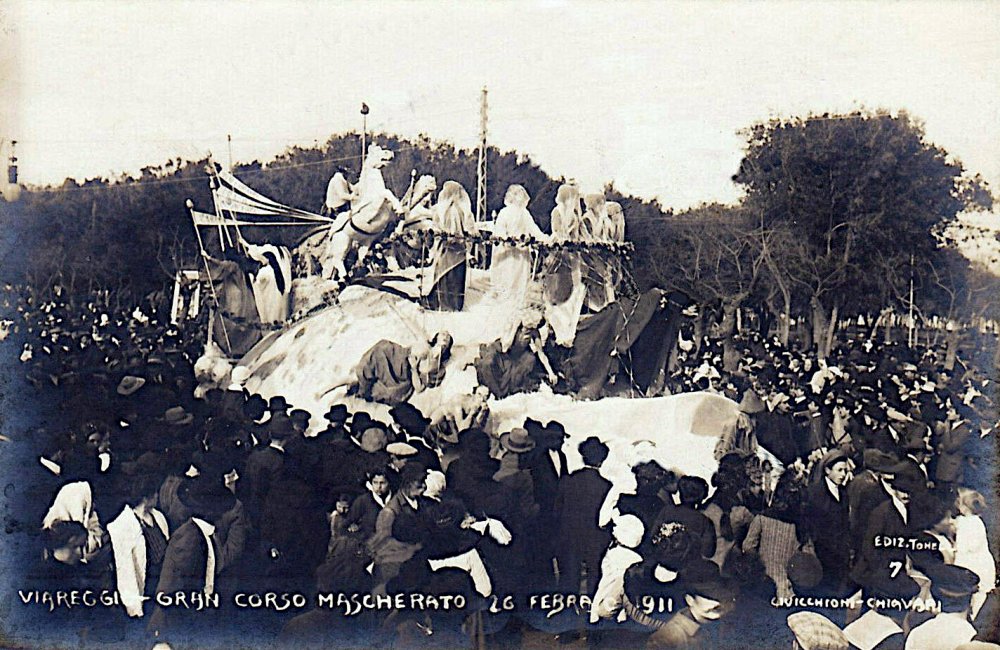
M 732 201 L 770 116 L 906 109 L 1000 188 L 997 2 L 0 0 L 0 138 L 61 182 L 369 128 L 490 141 L 584 189 Z M 439 179 L 440 181 L 441 179 Z

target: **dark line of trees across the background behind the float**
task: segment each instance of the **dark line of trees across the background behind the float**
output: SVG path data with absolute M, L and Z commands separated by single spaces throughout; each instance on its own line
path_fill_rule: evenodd
M 699 328 L 723 339 L 741 309 L 785 341 L 794 320 L 821 355 L 836 323 L 859 315 L 912 308 L 961 321 L 996 316 L 997 278 L 943 236 L 962 211 L 990 209 L 992 195 L 927 141 L 918 120 L 884 111 L 810 115 L 759 122 L 745 136 L 733 176 L 744 197 L 736 205 L 675 212 L 613 184 L 605 188 L 624 207 L 639 287 L 684 291 L 701 307 Z M 410 170 L 439 184 L 456 180 L 475 195 L 475 151 L 425 136 L 371 141 L 395 152 L 384 175 L 397 196 Z M 334 173 L 356 180 L 360 149 L 359 134 L 336 135 L 233 172 L 278 201 L 319 211 Z M 138 174 L 30 187 L 18 201 L 0 202 L 0 279 L 36 289 L 58 283 L 70 294 L 108 289 L 124 302 L 167 291 L 177 269 L 197 268 L 184 202 L 211 210 L 209 164 L 169 160 Z M 518 183 L 547 229 L 565 179 L 496 148 L 488 150 L 487 168 L 487 211 L 502 208 L 507 186 Z

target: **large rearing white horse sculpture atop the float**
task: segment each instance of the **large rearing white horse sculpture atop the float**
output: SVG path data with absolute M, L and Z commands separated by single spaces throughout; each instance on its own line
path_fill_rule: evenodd
M 392 160 L 388 149 L 372 145 L 365 156 L 361 177 L 350 194 L 351 209 L 341 213 L 330 227 L 326 251 L 323 255 L 323 277 L 344 279 L 347 268 L 344 260 L 352 249 L 357 249 L 358 260 L 364 259 L 368 248 L 378 239 L 389 222 L 402 209 L 399 199 L 385 186 L 382 168 Z M 329 189 L 329 188 L 328 188 Z M 332 194 L 339 195 L 338 192 Z M 328 205 L 329 210 L 338 206 Z

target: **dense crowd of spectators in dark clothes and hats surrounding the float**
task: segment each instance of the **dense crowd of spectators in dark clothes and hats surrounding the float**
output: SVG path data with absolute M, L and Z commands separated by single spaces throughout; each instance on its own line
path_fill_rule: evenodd
M 636 465 L 602 528 L 605 432 L 569 471 L 562 425 L 530 413 L 498 436 L 442 437 L 405 402 L 388 422 L 343 405 L 317 422 L 239 384 L 196 399 L 200 324 L 94 298 L 7 287 L 0 341 L 17 588 L 115 595 L 25 606 L 76 642 L 997 641 L 995 370 L 946 369 L 943 349 L 687 346 L 670 390 L 732 397 L 753 434 L 710 482 Z

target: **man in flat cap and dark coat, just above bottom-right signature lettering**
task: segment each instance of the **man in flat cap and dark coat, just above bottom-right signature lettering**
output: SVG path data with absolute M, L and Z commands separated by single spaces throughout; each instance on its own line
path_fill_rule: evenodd
M 803 525 L 823 566 L 823 580 L 817 592 L 831 597 L 843 595 L 851 561 L 851 538 L 847 498 L 849 464 L 839 450 L 827 452 L 820 461 L 820 476 L 809 486 Z

